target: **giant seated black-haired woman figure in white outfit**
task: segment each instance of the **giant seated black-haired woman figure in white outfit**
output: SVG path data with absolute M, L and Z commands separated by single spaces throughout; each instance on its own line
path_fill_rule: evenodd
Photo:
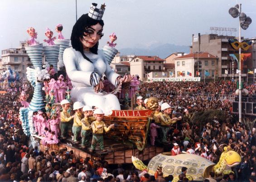
M 94 16 L 90 13 L 83 14 L 77 20 L 72 29 L 72 47 L 64 51 L 63 62 L 73 85 L 73 102 L 80 101 L 91 107 L 99 107 L 105 115 L 110 115 L 112 110 L 120 110 L 120 103 L 113 94 L 99 93 L 103 89 L 100 78 L 104 73 L 114 85 L 118 85 L 122 78 L 111 69 L 103 52 L 98 50 L 104 23 L 102 15 L 100 18 L 96 16 L 96 19 L 93 19 Z M 126 82 L 129 81 L 126 79 Z

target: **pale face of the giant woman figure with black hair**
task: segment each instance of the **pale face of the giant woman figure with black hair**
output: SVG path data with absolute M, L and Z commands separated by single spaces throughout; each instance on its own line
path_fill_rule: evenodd
M 97 42 L 101 39 L 102 31 L 102 26 L 99 23 L 87 28 L 84 32 L 83 37 L 80 39 L 83 48 L 86 49 L 95 46 Z

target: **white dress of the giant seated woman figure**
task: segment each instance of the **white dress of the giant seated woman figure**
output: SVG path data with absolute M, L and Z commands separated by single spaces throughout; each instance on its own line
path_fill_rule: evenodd
M 114 85 L 116 78 L 120 75 L 111 69 L 101 50 L 98 50 L 97 55 L 86 51 L 84 53 L 92 63 L 84 59 L 81 52 L 72 47 L 65 49 L 63 53 L 66 72 L 73 85 L 71 90 L 73 102 L 80 101 L 91 107 L 99 107 L 105 115 L 110 115 L 112 110 L 120 110 L 120 103 L 115 95 L 96 93 L 91 85 L 92 73 L 96 72 L 100 77 L 104 73 Z

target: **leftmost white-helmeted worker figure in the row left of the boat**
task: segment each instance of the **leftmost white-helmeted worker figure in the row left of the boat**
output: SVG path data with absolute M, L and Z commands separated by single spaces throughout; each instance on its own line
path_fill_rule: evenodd
M 70 114 L 68 113 L 68 109 L 70 108 L 70 103 L 67 99 L 62 100 L 60 102 L 60 105 L 63 109 L 63 111 L 60 113 L 61 138 L 66 139 L 69 121 L 72 120 L 74 116 L 70 116 Z

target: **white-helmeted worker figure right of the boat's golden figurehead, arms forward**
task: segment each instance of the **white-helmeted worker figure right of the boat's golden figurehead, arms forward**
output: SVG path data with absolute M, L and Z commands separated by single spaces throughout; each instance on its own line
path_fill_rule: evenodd
M 161 110 L 163 112 L 163 115 L 159 116 L 161 130 L 163 132 L 163 138 L 162 142 L 167 142 L 167 133 L 169 131 L 169 126 L 174 124 L 178 118 L 174 117 L 171 118 L 169 114 L 172 112 L 171 106 L 168 103 L 163 103 L 161 105 Z

